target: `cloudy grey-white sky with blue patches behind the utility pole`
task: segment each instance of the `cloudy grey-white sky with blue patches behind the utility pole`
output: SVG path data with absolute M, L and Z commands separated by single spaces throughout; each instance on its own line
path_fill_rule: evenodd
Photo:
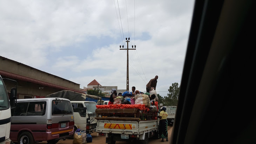
M 1 0 L 0 55 L 87 87 L 167 96 L 181 82 L 193 0 Z M 120 19 L 121 18 L 121 19 Z

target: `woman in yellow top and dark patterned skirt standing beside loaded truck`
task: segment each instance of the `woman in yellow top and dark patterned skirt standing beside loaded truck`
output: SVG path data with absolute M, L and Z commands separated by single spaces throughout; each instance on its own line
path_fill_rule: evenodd
M 166 141 L 168 142 L 168 121 L 167 121 L 167 112 L 166 107 L 161 108 L 161 112 L 159 113 L 159 116 L 157 116 L 159 119 L 159 136 L 162 138 L 161 142 L 164 142 L 164 138 L 166 138 Z

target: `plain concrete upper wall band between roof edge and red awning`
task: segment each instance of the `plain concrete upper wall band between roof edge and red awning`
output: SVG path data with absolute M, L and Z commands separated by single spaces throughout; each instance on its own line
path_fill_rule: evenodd
M 26 66 L 25 64 L 21 64 L 19 62 L 15 62 L 9 59 L 0 59 L 0 69 L 9 73 L 34 78 L 36 80 L 60 85 L 75 90 L 80 90 L 80 84 L 65 80 L 61 77 L 54 76 L 52 74 L 43 72 L 38 69 L 34 69 L 32 67 Z

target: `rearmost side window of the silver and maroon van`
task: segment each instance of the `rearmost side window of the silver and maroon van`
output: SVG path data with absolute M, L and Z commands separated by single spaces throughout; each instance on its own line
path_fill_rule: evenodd
M 45 115 L 46 102 L 30 102 L 28 104 L 27 116 Z

